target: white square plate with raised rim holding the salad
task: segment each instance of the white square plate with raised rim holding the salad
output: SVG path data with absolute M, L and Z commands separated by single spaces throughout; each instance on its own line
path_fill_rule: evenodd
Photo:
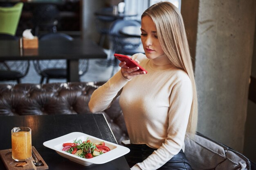
M 92 143 L 100 143 L 103 141 L 105 142 L 105 145 L 110 148 L 110 151 L 102 155 L 99 155 L 97 157 L 85 159 L 85 158 L 78 157 L 76 155 L 72 155 L 71 153 L 67 153 L 62 150 L 64 143 L 68 143 L 68 142 L 73 143 L 74 140 L 76 139 L 77 140 L 81 139 L 82 141 L 86 141 L 87 139 L 89 139 Z M 81 132 L 73 132 L 67 135 L 63 135 L 61 137 L 57 137 L 55 139 L 44 142 L 43 145 L 46 146 L 47 148 L 51 148 L 55 150 L 56 153 L 58 153 L 62 157 L 65 157 L 67 159 L 70 159 L 71 161 L 80 163 L 84 166 L 91 165 L 92 163 L 95 163 L 95 164 L 106 163 L 130 152 L 129 148 L 126 148 L 118 144 L 114 144 L 112 142 L 104 141 L 103 139 L 99 139 L 97 137 L 93 137 Z

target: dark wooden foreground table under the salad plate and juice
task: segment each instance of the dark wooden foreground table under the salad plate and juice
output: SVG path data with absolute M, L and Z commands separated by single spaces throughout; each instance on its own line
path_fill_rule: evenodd
M 116 143 L 103 114 L 0 116 L 0 150 L 11 148 L 11 129 L 27 126 L 32 130 L 32 146 L 43 157 L 49 170 L 130 170 L 124 156 L 104 164 L 83 166 L 61 157 L 43 142 L 71 132 L 82 132 Z M 0 159 L 0 170 L 5 170 Z

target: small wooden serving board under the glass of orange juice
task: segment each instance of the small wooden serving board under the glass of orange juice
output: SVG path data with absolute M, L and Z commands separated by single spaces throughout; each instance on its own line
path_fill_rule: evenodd
M 34 154 L 36 155 L 38 161 L 42 161 L 43 165 L 41 166 L 35 166 L 33 161 L 34 159 L 31 157 L 26 162 L 29 163 L 28 165 L 24 167 L 17 167 L 16 164 L 19 163 L 17 161 L 14 161 L 11 157 L 11 149 L 6 150 L 0 150 L 0 157 L 6 167 L 7 170 L 47 170 L 49 167 L 43 160 L 43 158 L 40 156 L 40 154 L 37 152 L 36 148 L 32 146 L 32 150 Z

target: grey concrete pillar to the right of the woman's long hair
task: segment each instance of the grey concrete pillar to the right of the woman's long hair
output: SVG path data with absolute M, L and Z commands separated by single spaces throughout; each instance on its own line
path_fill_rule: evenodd
M 200 0 L 195 57 L 198 131 L 243 152 L 255 0 Z

